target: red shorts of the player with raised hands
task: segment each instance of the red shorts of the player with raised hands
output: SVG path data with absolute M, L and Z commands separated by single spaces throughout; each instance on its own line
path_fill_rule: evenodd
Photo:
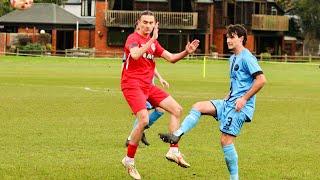
M 157 107 L 162 100 L 169 96 L 168 93 L 154 85 L 150 86 L 150 88 L 126 87 L 122 88 L 122 93 L 134 114 L 142 109 L 147 109 L 147 101 L 152 106 Z

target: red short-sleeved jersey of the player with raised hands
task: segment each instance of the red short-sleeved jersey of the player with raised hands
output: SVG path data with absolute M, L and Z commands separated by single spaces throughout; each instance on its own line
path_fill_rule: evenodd
M 152 84 L 155 68 L 155 57 L 160 57 L 164 49 L 156 40 L 151 44 L 150 48 L 137 60 L 131 58 L 130 48 L 142 47 L 149 40 L 150 36 L 143 37 L 139 33 L 134 32 L 127 38 L 124 52 L 126 61 L 122 70 L 121 85 L 122 88 L 136 86 L 149 87 Z

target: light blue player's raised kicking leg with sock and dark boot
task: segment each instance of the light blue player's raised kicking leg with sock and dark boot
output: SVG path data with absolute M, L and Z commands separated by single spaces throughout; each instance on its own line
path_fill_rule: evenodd
M 198 124 L 201 115 L 216 116 L 216 107 L 213 102 L 201 101 L 195 103 L 189 114 L 183 120 L 180 128 L 174 131 L 173 134 L 160 133 L 160 138 L 167 143 L 177 143 L 183 134 Z

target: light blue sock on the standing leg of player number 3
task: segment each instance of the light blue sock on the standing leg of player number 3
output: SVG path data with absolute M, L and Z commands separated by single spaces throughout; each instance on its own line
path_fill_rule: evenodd
M 238 180 L 238 154 L 233 144 L 223 146 L 224 159 L 226 161 L 230 180 Z

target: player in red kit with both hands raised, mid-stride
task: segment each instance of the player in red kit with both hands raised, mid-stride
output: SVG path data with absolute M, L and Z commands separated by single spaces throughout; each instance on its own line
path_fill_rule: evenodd
M 137 21 L 139 29 L 127 38 L 124 51 L 126 61 L 122 70 L 121 90 L 131 110 L 138 119 L 138 124 L 132 132 L 127 147 L 127 155 L 122 164 L 134 179 L 141 179 L 134 164 L 134 156 L 145 126 L 148 125 L 149 114 L 146 101 L 154 107 L 161 107 L 170 113 L 169 131 L 174 132 L 179 127 L 182 107 L 166 92 L 152 83 L 155 68 L 155 57 L 162 57 L 171 63 L 183 59 L 193 53 L 199 46 L 199 40 L 188 42 L 185 50 L 172 54 L 165 50 L 157 41 L 158 23 L 151 11 L 143 11 Z M 152 32 L 152 36 L 150 36 Z M 190 165 L 183 159 L 178 144 L 170 144 L 166 158 L 182 167 Z

